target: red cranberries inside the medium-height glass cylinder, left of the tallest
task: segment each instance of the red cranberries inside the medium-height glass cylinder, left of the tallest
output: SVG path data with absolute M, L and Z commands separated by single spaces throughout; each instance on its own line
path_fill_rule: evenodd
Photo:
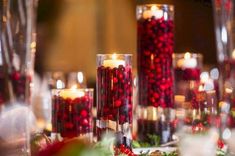
M 97 137 L 100 140 L 105 131 L 121 132 L 125 145 L 129 140 L 124 136 L 123 130 L 118 127 L 132 123 L 132 69 L 129 66 L 119 65 L 110 68 L 99 66 L 97 69 L 97 120 L 111 121 L 114 126 L 98 125 Z M 100 123 L 102 124 L 102 123 Z M 119 143 L 117 143 L 119 144 Z

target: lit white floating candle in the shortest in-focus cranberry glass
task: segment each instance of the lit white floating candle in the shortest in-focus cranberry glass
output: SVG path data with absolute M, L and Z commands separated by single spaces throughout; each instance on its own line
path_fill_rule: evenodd
M 63 97 L 64 99 L 66 98 L 79 98 L 83 97 L 85 95 L 84 91 L 77 90 L 77 89 L 62 89 L 60 91 L 60 96 Z

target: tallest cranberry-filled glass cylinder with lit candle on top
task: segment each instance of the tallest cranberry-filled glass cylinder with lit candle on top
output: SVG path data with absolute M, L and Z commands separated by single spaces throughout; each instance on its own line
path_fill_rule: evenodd
M 138 137 L 150 143 L 151 135 L 170 141 L 173 130 L 173 16 L 171 5 L 137 6 Z

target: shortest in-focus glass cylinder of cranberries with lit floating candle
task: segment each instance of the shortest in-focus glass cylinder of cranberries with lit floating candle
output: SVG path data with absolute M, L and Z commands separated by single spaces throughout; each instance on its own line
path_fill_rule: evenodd
M 52 90 L 52 134 L 92 140 L 93 89 Z

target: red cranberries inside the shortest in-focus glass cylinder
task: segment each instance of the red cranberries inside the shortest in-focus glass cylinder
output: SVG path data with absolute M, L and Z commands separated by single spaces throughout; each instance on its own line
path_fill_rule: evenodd
M 91 107 L 89 96 L 75 99 L 54 96 L 52 100 L 53 132 L 62 137 L 77 137 L 92 132 Z

